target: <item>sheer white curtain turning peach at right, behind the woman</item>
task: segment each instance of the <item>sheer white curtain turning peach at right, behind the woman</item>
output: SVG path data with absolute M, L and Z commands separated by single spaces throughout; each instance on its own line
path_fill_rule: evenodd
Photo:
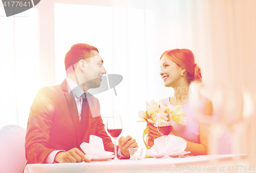
M 244 101 L 251 101 L 243 110 L 249 114 L 241 115 L 242 123 L 250 122 L 243 126 L 248 129 L 243 131 L 247 137 L 242 152 L 253 150 L 255 7 L 256 1 L 113 0 L 113 72 L 124 77 L 119 87 L 123 135 L 132 135 L 143 146 L 145 124 L 135 123 L 138 111 L 145 110 L 146 100 L 157 101 L 173 93 L 163 87 L 159 57 L 165 50 L 187 48 L 202 69 L 206 97 L 212 99 L 215 88 L 225 86 L 242 91 Z

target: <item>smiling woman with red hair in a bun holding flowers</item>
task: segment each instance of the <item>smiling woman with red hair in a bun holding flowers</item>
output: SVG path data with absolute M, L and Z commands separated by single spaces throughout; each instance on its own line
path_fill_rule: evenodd
M 174 130 L 171 135 L 183 138 L 187 142 L 185 151 L 191 152 L 190 155 L 207 155 L 207 138 L 205 127 L 199 126 L 196 112 L 191 111 L 192 100 L 188 97 L 189 85 L 193 81 L 202 82 L 201 69 L 195 63 L 194 54 L 188 49 L 174 49 L 165 51 L 160 57 L 160 75 L 165 87 L 174 89 L 174 96 L 164 98 L 164 104 L 181 105 L 186 113 L 186 125 L 174 123 Z M 201 97 L 199 101 L 200 111 L 205 115 L 212 114 L 211 101 Z M 147 145 L 152 147 L 152 139 L 162 136 L 157 127 L 148 124 Z M 153 137 L 153 138 L 152 138 Z

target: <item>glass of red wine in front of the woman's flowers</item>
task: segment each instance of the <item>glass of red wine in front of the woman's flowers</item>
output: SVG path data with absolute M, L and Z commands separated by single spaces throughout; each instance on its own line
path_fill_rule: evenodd
M 167 136 L 173 131 L 173 118 L 172 115 L 169 116 L 168 123 L 163 123 L 163 119 L 161 118 L 161 114 L 158 114 L 157 117 L 157 129 L 158 132 L 164 136 L 165 138 L 165 155 L 163 158 L 170 159 L 171 157 L 167 154 Z

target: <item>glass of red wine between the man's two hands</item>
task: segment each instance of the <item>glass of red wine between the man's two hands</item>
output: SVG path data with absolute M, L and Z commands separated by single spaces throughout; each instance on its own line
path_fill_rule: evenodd
M 106 129 L 115 140 L 115 158 L 113 161 L 118 161 L 119 159 L 117 158 L 116 138 L 121 134 L 123 129 L 120 114 L 113 114 L 108 116 L 108 119 L 106 120 Z

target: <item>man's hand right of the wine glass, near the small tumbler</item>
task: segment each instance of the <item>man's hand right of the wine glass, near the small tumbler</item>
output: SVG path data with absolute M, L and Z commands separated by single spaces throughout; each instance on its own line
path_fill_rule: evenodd
M 118 146 L 123 156 L 130 156 L 129 148 L 139 147 L 135 139 L 131 136 L 126 136 L 125 138 L 121 136 L 118 140 Z

